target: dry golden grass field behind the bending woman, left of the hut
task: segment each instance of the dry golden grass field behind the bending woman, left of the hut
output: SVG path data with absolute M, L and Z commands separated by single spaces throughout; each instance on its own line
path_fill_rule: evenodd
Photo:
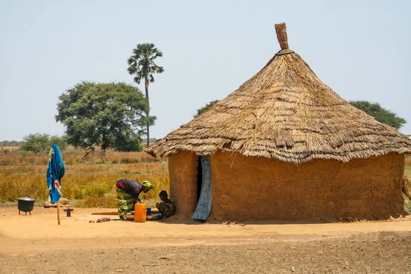
M 157 160 L 144 152 L 95 153 L 81 160 L 84 151 L 63 151 L 66 174 L 62 179 L 62 197 L 79 199 L 77 206 L 116 207 L 116 180 L 149 180 L 153 190 L 142 199 L 158 199 L 160 190 L 169 191 L 166 160 Z M 0 201 L 32 197 L 45 201 L 49 195 L 46 181 L 47 155 L 26 155 L 20 151 L 0 153 Z

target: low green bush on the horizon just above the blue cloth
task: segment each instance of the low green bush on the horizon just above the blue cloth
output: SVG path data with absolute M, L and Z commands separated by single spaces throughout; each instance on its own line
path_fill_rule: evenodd
M 24 143 L 21 145 L 21 150 L 32 151 L 34 153 L 47 153 L 50 150 L 51 145 L 58 145 L 60 150 L 67 148 L 67 142 L 64 137 L 57 135 L 49 136 L 49 134 L 29 134 L 23 138 Z

